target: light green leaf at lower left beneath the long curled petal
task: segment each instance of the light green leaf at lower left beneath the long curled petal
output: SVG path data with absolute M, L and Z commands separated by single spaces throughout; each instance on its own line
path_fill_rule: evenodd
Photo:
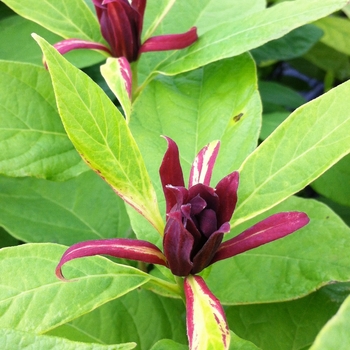
M 64 274 L 74 281 L 62 282 L 55 267 L 65 249 L 46 243 L 0 250 L 0 328 L 47 332 L 149 280 L 140 270 L 96 256 L 67 264 Z

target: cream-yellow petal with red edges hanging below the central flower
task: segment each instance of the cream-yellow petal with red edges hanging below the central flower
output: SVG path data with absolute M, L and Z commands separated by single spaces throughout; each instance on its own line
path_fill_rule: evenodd
M 184 291 L 189 349 L 228 349 L 230 331 L 220 301 L 199 276 L 186 277 Z

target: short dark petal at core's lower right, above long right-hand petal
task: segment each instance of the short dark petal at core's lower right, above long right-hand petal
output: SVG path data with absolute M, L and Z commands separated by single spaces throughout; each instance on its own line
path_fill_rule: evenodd
M 219 248 L 224 233 L 230 232 L 230 224 L 226 222 L 216 232 L 212 233 L 201 250 L 193 258 L 193 268 L 191 273 L 201 272 L 212 263 L 213 256 Z

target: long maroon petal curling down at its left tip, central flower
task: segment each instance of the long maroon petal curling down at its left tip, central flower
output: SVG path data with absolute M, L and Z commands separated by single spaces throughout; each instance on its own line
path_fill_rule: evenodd
M 68 248 L 56 267 L 56 276 L 65 280 L 62 266 L 70 260 L 102 254 L 149 264 L 167 265 L 163 253 L 152 243 L 126 238 L 101 239 L 77 243 Z

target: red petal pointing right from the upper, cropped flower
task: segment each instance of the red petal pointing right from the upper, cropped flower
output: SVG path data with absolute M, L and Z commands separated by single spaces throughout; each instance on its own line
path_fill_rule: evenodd
M 139 53 L 180 50 L 192 45 L 197 39 L 198 35 L 196 27 L 192 27 L 188 32 L 182 34 L 153 36 L 141 45 Z

